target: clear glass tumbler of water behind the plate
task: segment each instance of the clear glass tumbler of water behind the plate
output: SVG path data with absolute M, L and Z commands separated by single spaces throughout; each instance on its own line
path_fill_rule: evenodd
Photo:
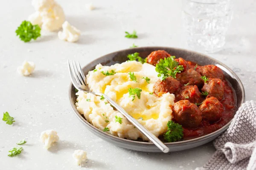
M 225 44 L 233 17 L 233 0 L 183 0 L 183 28 L 188 45 L 214 53 Z

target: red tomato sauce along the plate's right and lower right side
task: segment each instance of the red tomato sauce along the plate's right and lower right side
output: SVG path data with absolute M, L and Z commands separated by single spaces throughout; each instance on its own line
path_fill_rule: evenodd
M 226 125 L 227 122 L 229 122 L 233 118 L 234 112 L 236 111 L 236 102 L 233 96 L 232 88 L 230 87 L 230 85 L 228 85 L 227 81 L 224 81 L 224 83 L 224 97 L 221 101 L 224 111 L 222 113 L 221 120 L 211 124 L 207 121 L 202 120 L 201 125 L 196 129 L 189 129 L 183 127 L 184 140 L 189 140 L 212 133 Z

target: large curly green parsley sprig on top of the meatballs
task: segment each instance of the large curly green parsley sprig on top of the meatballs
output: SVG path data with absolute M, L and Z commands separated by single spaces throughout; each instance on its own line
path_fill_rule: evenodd
M 169 76 L 176 79 L 176 74 L 183 71 L 183 65 L 179 65 L 179 63 L 174 59 L 175 56 L 170 56 L 160 59 L 157 63 L 156 71 L 159 73 L 157 76 L 160 77 L 161 81 L 165 80 Z

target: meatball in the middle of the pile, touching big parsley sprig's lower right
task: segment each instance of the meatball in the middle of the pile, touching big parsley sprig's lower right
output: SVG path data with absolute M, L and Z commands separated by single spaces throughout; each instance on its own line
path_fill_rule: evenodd
M 177 74 L 176 75 L 177 80 L 180 81 L 181 84 L 187 84 L 189 85 L 197 85 L 198 87 L 202 87 L 204 84 L 204 80 L 201 78 L 201 74 L 195 71 L 193 68 L 190 68 L 189 70 Z

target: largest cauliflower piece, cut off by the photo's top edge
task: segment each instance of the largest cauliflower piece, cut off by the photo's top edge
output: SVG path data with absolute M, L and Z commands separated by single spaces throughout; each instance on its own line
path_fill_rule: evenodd
M 36 12 L 29 16 L 31 23 L 42 26 L 48 31 L 56 31 L 65 21 L 65 14 L 61 6 L 54 0 L 33 0 Z

